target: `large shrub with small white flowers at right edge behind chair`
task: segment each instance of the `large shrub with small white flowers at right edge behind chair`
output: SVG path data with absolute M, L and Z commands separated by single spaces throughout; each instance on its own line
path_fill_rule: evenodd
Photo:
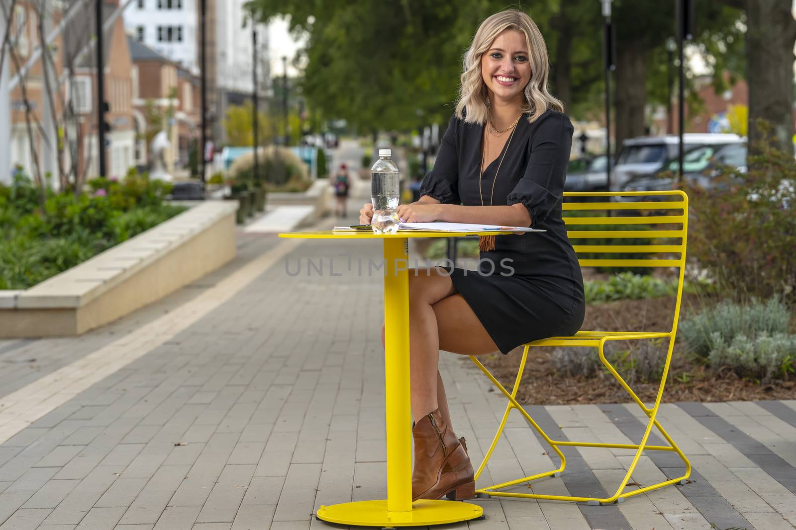
M 711 189 L 685 185 L 690 197 L 689 257 L 727 296 L 796 304 L 796 161 L 766 134 L 748 172 L 720 168 Z

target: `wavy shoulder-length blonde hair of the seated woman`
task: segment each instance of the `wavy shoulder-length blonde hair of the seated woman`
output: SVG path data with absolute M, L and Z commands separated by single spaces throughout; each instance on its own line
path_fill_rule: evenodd
M 533 123 L 549 109 L 564 112 L 564 103 L 548 91 L 550 60 L 547 45 L 537 25 L 527 14 L 505 10 L 488 17 L 478 26 L 470 48 L 464 54 L 462 85 L 456 100 L 456 117 L 469 123 L 486 123 L 489 117 L 488 89 L 481 74 L 481 56 L 490 49 L 495 37 L 506 29 L 516 29 L 525 35 L 531 65 L 531 79 L 525 85 L 522 111 L 529 113 Z

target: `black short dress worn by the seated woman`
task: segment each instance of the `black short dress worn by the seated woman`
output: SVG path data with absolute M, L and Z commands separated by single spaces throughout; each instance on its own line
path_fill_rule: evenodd
M 583 277 L 561 220 L 572 122 L 548 110 L 533 123 L 525 114 L 503 152 L 484 171 L 482 194 L 490 205 L 497 165 L 505 153 L 493 206 L 522 203 L 531 226 L 547 230 L 498 235 L 495 250 L 481 253 L 478 271 L 446 268 L 490 337 L 507 354 L 538 339 L 573 335 L 583 323 Z M 420 195 L 440 203 L 481 206 L 478 172 L 484 126 L 451 118 Z

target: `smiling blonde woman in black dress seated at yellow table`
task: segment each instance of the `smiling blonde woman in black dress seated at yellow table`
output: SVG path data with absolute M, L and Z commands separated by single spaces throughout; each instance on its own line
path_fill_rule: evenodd
M 437 267 L 409 275 L 412 497 L 474 497 L 473 467 L 453 431 L 439 350 L 508 354 L 572 335 L 583 323 L 583 277 L 561 220 L 572 123 L 548 92 L 537 25 L 516 10 L 482 22 L 464 56 L 455 116 L 408 222 L 478 222 L 545 232 L 482 238 L 478 272 Z M 373 207 L 365 204 L 360 222 Z M 384 341 L 384 328 L 382 328 Z

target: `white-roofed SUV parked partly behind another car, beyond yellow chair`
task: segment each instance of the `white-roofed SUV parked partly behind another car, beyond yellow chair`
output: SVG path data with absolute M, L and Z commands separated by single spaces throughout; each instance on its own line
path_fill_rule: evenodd
M 685 150 L 702 145 L 740 144 L 743 138 L 737 134 L 686 133 L 683 135 Z M 622 142 L 622 151 L 611 170 L 611 191 L 622 191 L 628 180 L 650 175 L 664 164 L 677 159 L 679 138 L 673 134 L 659 137 L 629 138 Z

